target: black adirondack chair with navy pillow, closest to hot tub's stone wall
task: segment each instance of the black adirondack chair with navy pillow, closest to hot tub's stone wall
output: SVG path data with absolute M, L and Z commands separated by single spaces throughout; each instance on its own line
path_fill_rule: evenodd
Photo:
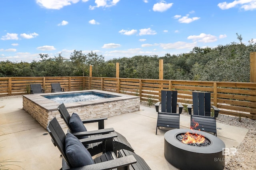
M 66 126 L 68 127 L 68 131 L 71 132 L 72 134 L 74 134 L 74 136 L 76 136 L 78 138 L 83 138 L 84 136 L 92 137 L 92 136 L 99 135 L 99 134 L 106 134 L 106 133 L 114 132 L 114 128 L 104 129 L 104 120 L 107 119 L 106 117 L 81 121 L 79 116 L 76 113 L 73 113 L 71 117 L 76 116 L 76 120 L 78 121 L 77 123 L 73 124 L 74 121 L 73 122 L 70 121 L 71 117 L 70 117 L 70 114 L 68 113 L 68 110 L 66 109 L 66 106 L 64 105 L 64 103 L 60 104 L 57 107 L 57 109 L 60 112 L 60 117 L 62 117 L 62 119 L 66 123 Z M 74 126 L 78 125 L 78 123 L 79 123 L 79 127 L 80 127 L 79 129 L 74 127 Z M 86 124 L 86 123 L 98 123 L 99 130 L 93 130 L 92 131 L 93 133 L 90 134 L 91 131 L 87 131 L 86 128 L 84 127 L 84 124 Z M 117 134 L 117 136 L 113 138 L 114 152 L 117 153 L 117 151 L 121 150 L 121 149 L 126 149 L 131 152 L 134 152 L 134 149 L 132 148 L 131 144 L 126 140 L 126 138 L 122 134 L 120 134 L 116 131 L 115 131 L 115 133 Z M 91 155 L 95 155 L 95 154 L 102 152 L 101 151 L 101 143 L 90 144 L 88 146 L 88 151 L 91 153 Z

